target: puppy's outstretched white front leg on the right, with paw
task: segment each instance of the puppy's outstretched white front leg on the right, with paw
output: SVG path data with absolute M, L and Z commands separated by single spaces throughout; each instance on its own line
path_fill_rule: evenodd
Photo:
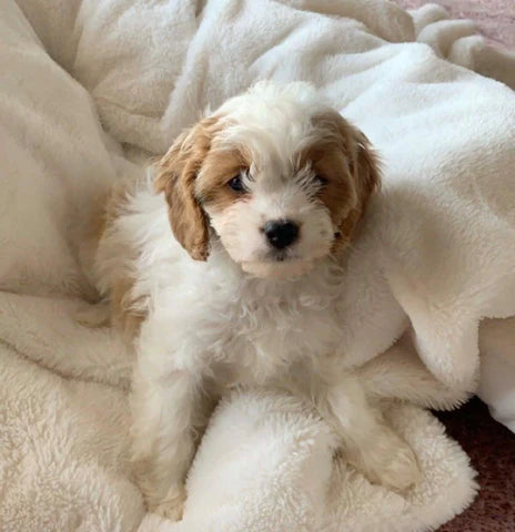
M 342 437 L 347 460 L 368 480 L 395 491 L 404 491 L 420 480 L 411 447 L 370 405 L 356 377 L 344 376 L 337 383 L 322 386 L 315 403 Z

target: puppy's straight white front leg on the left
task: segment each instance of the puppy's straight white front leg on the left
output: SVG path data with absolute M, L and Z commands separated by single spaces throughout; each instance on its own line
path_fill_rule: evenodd
M 184 479 L 194 456 L 200 377 L 149 365 L 134 371 L 132 450 L 139 487 L 149 511 L 178 520 L 185 500 Z

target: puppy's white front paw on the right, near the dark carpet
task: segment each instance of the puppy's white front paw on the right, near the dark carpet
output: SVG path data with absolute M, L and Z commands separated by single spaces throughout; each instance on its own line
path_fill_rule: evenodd
M 405 492 L 422 479 L 415 453 L 394 432 L 383 433 L 371 442 L 356 464 L 373 483 L 396 492 Z

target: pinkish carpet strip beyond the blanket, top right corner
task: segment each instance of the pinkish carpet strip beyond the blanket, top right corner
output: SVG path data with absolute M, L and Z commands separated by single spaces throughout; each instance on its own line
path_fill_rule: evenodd
M 420 8 L 430 0 L 394 0 L 403 8 Z M 515 0 L 431 0 L 454 19 L 472 19 L 491 41 L 515 49 Z M 513 529 L 515 532 L 515 529 Z

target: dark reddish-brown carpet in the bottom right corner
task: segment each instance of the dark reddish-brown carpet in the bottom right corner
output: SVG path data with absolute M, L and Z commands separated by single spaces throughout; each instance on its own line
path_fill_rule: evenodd
M 436 416 L 471 457 L 481 485 L 473 504 L 438 532 L 515 532 L 515 434 L 478 399 Z

